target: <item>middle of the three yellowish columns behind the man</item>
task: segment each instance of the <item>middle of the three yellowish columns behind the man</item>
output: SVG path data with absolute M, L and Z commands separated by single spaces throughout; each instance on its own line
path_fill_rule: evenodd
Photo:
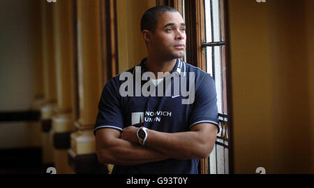
M 74 126 L 73 1 L 57 1 L 54 8 L 54 52 L 57 78 L 57 114 L 52 117 L 54 164 L 58 174 L 73 173 L 68 164 L 70 133 Z

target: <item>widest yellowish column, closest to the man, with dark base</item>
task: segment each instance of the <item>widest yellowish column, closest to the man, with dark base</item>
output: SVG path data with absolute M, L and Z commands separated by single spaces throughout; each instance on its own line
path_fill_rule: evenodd
M 98 101 L 103 88 L 101 56 L 100 1 L 77 0 L 77 60 L 79 119 L 71 133 L 68 152 L 76 173 L 107 173 L 98 162 L 93 133 Z

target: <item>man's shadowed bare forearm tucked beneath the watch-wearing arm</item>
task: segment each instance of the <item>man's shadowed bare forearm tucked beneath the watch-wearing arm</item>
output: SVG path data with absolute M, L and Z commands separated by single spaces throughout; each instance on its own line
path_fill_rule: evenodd
M 146 146 L 130 143 L 117 138 L 114 145 L 103 148 L 98 152 L 100 161 L 104 164 L 137 165 L 154 161 L 162 161 L 167 157 L 161 152 Z

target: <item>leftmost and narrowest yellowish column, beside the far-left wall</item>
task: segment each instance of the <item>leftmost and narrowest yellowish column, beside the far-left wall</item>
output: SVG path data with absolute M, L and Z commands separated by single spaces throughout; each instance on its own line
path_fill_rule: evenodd
M 54 23 L 53 9 L 55 3 L 41 1 L 42 10 L 42 42 L 43 42 L 43 90 L 44 103 L 40 108 L 42 140 L 43 140 L 43 164 L 44 168 L 54 166 L 53 143 L 51 123 L 56 107 L 56 73 L 54 58 Z

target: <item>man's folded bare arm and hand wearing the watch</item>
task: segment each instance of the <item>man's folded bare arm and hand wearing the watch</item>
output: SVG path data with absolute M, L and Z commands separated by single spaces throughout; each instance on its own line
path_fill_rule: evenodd
M 137 129 L 126 127 L 121 138 L 135 143 Z M 213 150 L 217 131 L 217 126 L 209 123 L 196 124 L 190 131 L 179 133 L 147 130 L 145 145 L 172 159 L 206 158 Z

